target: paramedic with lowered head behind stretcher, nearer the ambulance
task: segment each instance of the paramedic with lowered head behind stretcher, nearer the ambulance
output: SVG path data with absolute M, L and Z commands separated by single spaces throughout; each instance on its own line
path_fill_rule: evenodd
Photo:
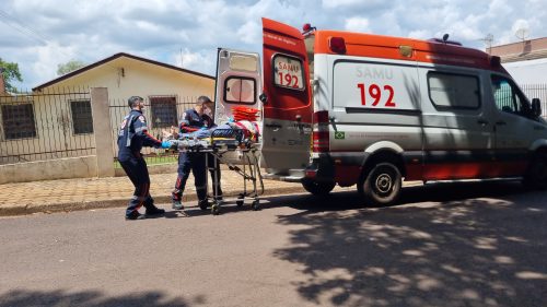
M 198 131 L 200 129 L 208 129 L 214 126 L 210 116 L 206 114 L 207 109 L 212 108 L 212 102 L 207 96 L 198 97 L 196 106 L 191 109 L 186 110 L 181 118 L 178 126 L 178 132 L 190 133 Z M 175 131 L 176 132 L 176 129 Z M 179 135 L 179 134 L 178 134 Z M 208 153 L 199 152 L 179 152 L 178 153 L 178 176 L 175 182 L 175 189 L 172 193 L 173 209 L 183 210 L 184 205 L 182 203 L 183 192 L 186 187 L 186 181 L 191 173 L 194 174 L 196 193 L 198 194 L 199 206 L 201 209 L 207 208 L 207 170 L 206 170 L 206 158 L 208 158 L 208 164 L 213 165 L 214 156 Z M 211 169 L 211 177 L 213 178 L 212 185 L 213 189 L 218 189 L 219 198 L 222 196 L 222 190 L 220 188 L 220 167 Z M 217 180 L 214 180 L 217 179 Z

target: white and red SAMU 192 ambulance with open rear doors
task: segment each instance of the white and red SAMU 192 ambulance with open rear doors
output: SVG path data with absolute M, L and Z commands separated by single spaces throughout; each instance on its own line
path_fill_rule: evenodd
M 266 178 L 313 194 L 357 185 L 371 205 L 403 180 L 521 178 L 547 186 L 547 123 L 499 57 L 443 39 L 263 19 L 258 54 L 219 49 L 216 121 L 260 110 Z

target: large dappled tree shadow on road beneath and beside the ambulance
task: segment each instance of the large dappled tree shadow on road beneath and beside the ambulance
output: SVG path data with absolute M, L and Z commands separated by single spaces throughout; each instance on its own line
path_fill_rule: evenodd
M 406 188 L 399 205 L 363 206 L 353 192 L 286 197 L 302 211 L 279 259 L 315 304 L 345 306 L 545 306 L 544 192 L 515 182 Z M 420 203 L 420 204 L 418 204 Z

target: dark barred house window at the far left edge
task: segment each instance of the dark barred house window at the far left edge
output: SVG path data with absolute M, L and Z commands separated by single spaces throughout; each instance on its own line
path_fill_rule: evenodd
M 36 138 L 32 104 L 2 106 L 2 123 L 5 140 Z

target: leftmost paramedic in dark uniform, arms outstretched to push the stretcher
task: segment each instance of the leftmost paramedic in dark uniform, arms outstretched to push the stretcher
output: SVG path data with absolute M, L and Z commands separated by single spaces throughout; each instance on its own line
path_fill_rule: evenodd
M 135 186 L 133 197 L 126 210 L 126 220 L 141 220 L 150 215 L 165 213 L 154 205 L 150 196 L 150 177 L 142 154 L 142 146 L 168 149 L 170 142 L 162 142 L 148 133 L 147 119 L 142 115 L 144 101 L 132 96 L 128 99 L 131 111 L 124 118 L 118 132 L 118 161 Z M 144 205 L 146 214 L 139 213 Z

